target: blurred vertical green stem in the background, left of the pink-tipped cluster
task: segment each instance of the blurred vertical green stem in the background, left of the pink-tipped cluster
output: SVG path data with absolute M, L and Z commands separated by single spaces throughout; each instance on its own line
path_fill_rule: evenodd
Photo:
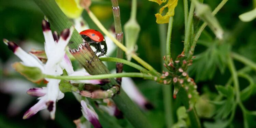
M 169 23 L 171 21 L 169 20 Z M 160 37 L 160 42 L 161 42 L 161 56 L 165 56 L 167 53 L 167 43 L 166 39 L 168 38 L 166 36 L 167 33 L 167 26 L 166 24 L 159 24 L 159 37 Z M 170 26 L 168 26 L 169 29 Z M 170 28 L 171 29 L 171 28 Z M 170 30 L 171 31 L 171 30 Z M 171 41 L 171 39 L 170 39 Z M 170 51 L 168 49 L 168 51 Z M 161 59 L 161 63 L 164 63 L 164 60 Z M 167 70 L 163 65 L 162 65 L 162 70 L 165 71 Z M 162 92 L 163 92 L 163 105 L 164 105 L 164 110 L 165 110 L 165 123 L 167 128 L 171 128 L 173 125 L 173 111 L 172 111 L 172 89 L 171 89 L 171 84 L 169 85 L 162 85 Z

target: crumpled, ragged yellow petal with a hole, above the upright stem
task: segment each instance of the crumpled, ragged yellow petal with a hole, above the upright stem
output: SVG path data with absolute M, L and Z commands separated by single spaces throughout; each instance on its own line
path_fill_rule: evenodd
M 171 16 L 174 16 L 174 9 L 177 6 L 177 4 L 178 4 L 178 0 L 168 0 L 167 4 L 159 10 L 159 13 L 155 14 L 156 23 L 157 24 L 169 23 L 169 18 Z M 168 12 L 164 16 L 162 16 L 162 12 L 166 7 L 168 8 Z

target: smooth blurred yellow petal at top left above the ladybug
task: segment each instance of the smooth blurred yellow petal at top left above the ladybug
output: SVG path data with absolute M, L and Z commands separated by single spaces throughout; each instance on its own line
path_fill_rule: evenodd
M 81 16 L 83 8 L 80 6 L 80 0 L 55 0 L 63 13 L 69 18 Z

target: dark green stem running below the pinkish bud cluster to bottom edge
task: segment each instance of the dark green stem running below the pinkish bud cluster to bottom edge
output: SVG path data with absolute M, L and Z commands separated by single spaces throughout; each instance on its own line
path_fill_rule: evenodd
M 197 116 L 195 109 L 190 108 L 189 99 L 185 89 L 181 87 L 179 93 L 177 93 L 177 96 L 180 97 L 181 102 L 188 111 L 187 113 L 190 119 L 191 128 L 201 128 L 200 120 Z

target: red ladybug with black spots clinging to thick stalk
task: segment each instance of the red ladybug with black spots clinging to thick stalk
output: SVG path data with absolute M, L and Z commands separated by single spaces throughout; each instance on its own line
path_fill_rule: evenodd
M 82 36 L 86 43 L 89 43 L 90 46 L 96 48 L 95 55 L 98 52 L 101 52 L 101 54 L 98 55 L 98 57 L 100 57 L 104 56 L 107 53 L 108 47 L 106 45 L 105 38 L 99 31 L 94 29 L 87 29 L 80 32 L 79 34 Z M 103 48 L 101 47 L 101 45 L 103 46 Z M 95 55 L 93 56 L 93 58 L 95 57 Z M 93 60 L 93 58 L 91 58 L 91 60 Z M 91 60 L 89 63 L 91 63 Z

